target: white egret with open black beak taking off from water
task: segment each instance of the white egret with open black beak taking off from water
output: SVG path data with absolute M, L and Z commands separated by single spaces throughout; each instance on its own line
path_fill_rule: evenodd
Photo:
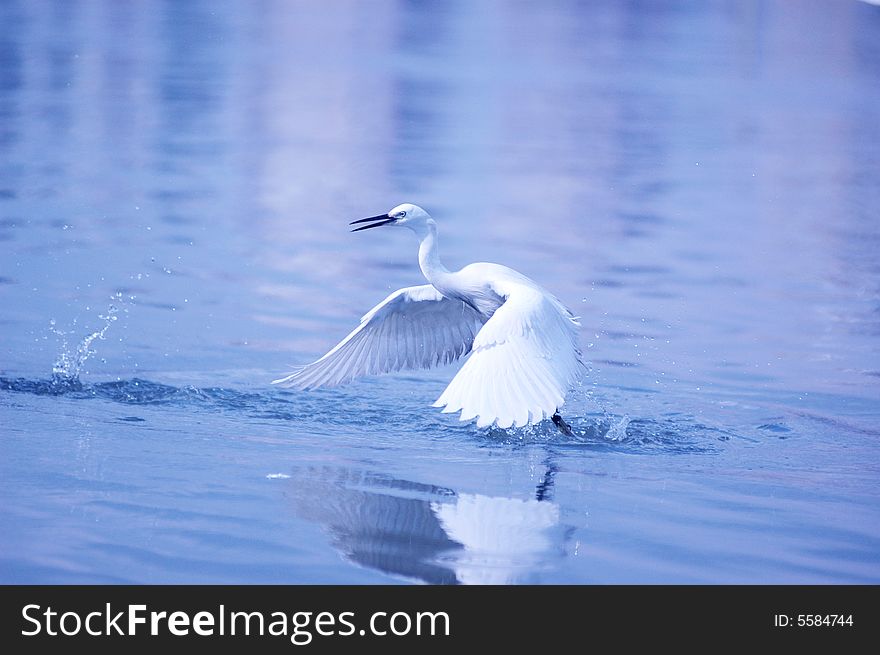
M 553 295 L 499 264 L 449 271 L 437 251 L 437 224 L 421 207 L 398 205 L 387 214 L 353 221 L 353 232 L 406 227 L 419 238 L 419 267 L 429 284 L 406 287 L 373 307 L 321 359 L 273 384 L 332 387 L 357 377 L 467 361 L 434 407 L 461 411 L 479 427 L 520 427 L 559 415 L 583 372 L 578 323 Z

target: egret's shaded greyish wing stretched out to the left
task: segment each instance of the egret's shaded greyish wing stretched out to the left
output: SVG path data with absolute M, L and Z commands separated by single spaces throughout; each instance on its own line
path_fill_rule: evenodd
M 448 364 L 470 350 L 482 324 L 469 305 L 446 298 L 430 284 L 406 287 L 367 312 L 321 359 L 272 384 L 334 387 L 364 375 Z

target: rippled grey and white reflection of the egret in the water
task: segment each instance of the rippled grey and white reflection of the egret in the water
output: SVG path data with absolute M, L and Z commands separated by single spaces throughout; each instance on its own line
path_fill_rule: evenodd
M 298 469 L 288 483 L 296 514 L 322 525 L 356 564 L 429 584 L 513 584 L 564 556 L 554 474 L 549 466 L 525 499 L 348 468 Z

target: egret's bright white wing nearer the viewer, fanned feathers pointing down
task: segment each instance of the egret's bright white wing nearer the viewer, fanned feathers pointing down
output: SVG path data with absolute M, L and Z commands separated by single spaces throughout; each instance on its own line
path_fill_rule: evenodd
M 580 377 L 580 325 L 559 300 L 543 289 L 512 281 L 495 282 L 504 304 L 474 339 L 471 355 L 435 407 L 461 410 L 480 427 L 523 426 L 550 417 Z

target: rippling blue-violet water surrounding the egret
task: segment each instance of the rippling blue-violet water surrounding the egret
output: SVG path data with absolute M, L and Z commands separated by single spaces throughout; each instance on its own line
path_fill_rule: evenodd
M 880 7 L 0 3 L 0 582 L 880 582 Z M 391 290 L 582 317 L 552 426 L 289 392 Z

